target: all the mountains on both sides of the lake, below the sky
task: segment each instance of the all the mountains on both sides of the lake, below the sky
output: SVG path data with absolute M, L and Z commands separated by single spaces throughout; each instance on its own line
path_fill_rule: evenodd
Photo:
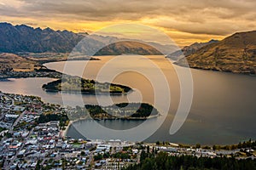
M 74 47 L 76 47 L 74 49 Z M 173 52 L 173 53 L 170 53 Z M 256 72 L 256 31 L 237 32 L 221 41 L 195 42 L 177 50 L 176 46 L 134 39 L 88 35 L 50 28 L 12 26 L 0 23 L 0 53 L 65 53 L 90 55 L 168 54 L 175 64 L 189 67 L 231 71 Z M 53 55 L 54 56 L 54 55 Z

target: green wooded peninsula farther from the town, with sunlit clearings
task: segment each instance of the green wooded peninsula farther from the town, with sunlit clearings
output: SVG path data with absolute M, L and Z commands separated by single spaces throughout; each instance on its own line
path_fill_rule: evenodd
M 44 84 L 48 92 L 69 92 L 82 94 L 127 94 L 131 88 L 109 82 L 96 82 L 74 76 L 63 76 L 62 78 Z

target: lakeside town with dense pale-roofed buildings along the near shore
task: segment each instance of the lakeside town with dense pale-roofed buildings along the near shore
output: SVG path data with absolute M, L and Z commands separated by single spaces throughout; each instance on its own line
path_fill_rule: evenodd
M 226 146 L 171 142 L 73 139 L 66 135 L 75 108 L 44 103 L 39 97 L 0 93 L 2 169 L 124 169 L 146 152 L 169 156 L 255 159 L 255 141 Z

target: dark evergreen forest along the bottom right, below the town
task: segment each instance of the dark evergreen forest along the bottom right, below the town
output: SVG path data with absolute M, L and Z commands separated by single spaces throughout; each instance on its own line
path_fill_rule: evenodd
M 125 170 L 251 170 L 256 169 L 256 161 L 236 159 L 235 157 L 196 157 L 168 156 L 166 152 L 142 151 L 140 163 L 131 165 Z

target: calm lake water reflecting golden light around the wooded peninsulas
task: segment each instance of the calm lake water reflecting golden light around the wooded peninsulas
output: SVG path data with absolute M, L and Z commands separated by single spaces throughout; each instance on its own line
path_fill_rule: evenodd
M 167 104 L 170 109 L 166 117 L 159 116 L 147 122 L 121 120 L 99 121 L 98 123 L 89 120 L 74 122 L 68 129 L 68 136 L 73 138 L 83 138 L 85 136 L 90 137 L 90 139 L 137 141 L 142 138 L 144 133 L 150 133 L 153 128 L 163 122 L 146 141 L 168 140 L 184 144 L 232 144 L 244 139 L 256 139 L 256 77 L 192 69 L 194 95 L 189 116 L 177 133 L 170 135 L 169 129 L 180 99 L 177 74 L 173 66 L 170 65 L 170 61 L 163 56 L 147 56 L 157 65 L 156 68 L 148 66 L 147 59 L 144 58 L 124 56 L 114 62 L 109 62 L 113 59 L 113 56 L 99 58 L 101 60 L 68 61 L 69 66 L 73 69 L 66 69 L 66 73 L 83 75 L 83 77 L 90 79 L 102 77 L 101 80 L 106 80 L 106 77 L 111 78 L 114 71 L 119 71 L 119 68 L 126 68 L 128 71 L 114 77 L 113 82 L 127 85 L 135 91 L 128 95 L 112 96 L 113 103 L 142 99 L 143 102 L 154 104 L 154 83 L 150 82 L 145 75 L 143 76 L 134 70 L 140 68 L 145 71 L 146 75 L 151 75 L 154 80 L 154 78 L 159 77 L 159 74 L 156 73 L 160 68 L 170 86 L 171 102 Z M 111 69 L 102 71 L 101 75 L 97 75 L 102 66 L 107 64 Z M 45 64 L 49 69 L 55 69 L 56 71 L 63 71 L 64 65 L 65 62 Z M 86 65 L 85 69 L 84 65 Z M 64 99 L 66 104 L 73 106 L 97 104 L 98 100 L 108 101 L 109 99 L 107 95 L 97 96 L 98 98 L 96 98 L 95 95 L 81 96 L 79 94 L 44 92 L 41 86 L 52 80 L 50 78 L 11 79 L 9 82 L 0 82 L 0 90 L 6 93 L 38 95 L 46 102 L 61 105 Z M 160 86 L 158 94 L 161 98 L 158 99 L 159 104 L 154 106 L 161 112 L 162 107 L 166 105 L 167 91 L 165 84 L 158 84 L 158 86 Z M 108 102 L 104 105 L 108 105 Z M 122 129 L 131 129 L 140 125 L 142 125 L 142 130 L 115 133 L 116 131 L 121 132 Z M 105 133 L 102 131 L 102 127 L 113 129 L 113 133 Z

